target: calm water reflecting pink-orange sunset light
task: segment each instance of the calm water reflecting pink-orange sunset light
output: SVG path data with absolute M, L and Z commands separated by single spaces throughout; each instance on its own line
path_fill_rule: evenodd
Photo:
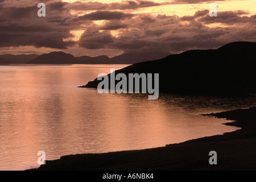
M 237 130 L 198 114 L 253 106 L 253 98 L 98 94 L 77 88 L 126 65 L 0 66 L 0 169 L 62 155 L 135 150 Z

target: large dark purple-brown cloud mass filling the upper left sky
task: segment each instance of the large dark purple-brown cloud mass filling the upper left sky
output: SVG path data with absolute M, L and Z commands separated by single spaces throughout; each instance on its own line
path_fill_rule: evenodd
M 27 0 L 27 4 L 30 4 L 28 7 L 19 7 L 19 1 L 12 2 L 5 1 L 1 7 L 0 47 L 35 46 L 63 49 L 74 46 L 74 42 L 63 41 L 72 36 L 70 30 L 74 28 L 74 23 L 69 22 L 74 17 L 63 9 L 65 3 L 44 1 L 47 6 L 46 17 L 38 17 L 37 1 Z

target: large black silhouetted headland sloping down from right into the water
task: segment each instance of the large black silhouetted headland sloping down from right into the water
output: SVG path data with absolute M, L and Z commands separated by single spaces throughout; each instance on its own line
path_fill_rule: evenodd
M 255 94 L 255 50 L 256 43 L 234 42 L 218 49 L 191 50 L 137 63 L 115 73 L 159 73 L 160 92 Z M 97 88 L 99 82 L 96 78 L 82 87 Z

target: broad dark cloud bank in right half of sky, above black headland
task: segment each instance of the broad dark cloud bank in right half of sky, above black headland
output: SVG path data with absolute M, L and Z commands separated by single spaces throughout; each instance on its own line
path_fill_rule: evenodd
M 122 21 L 127 28 L 122 29 L 119 36 L 113 36 L 110 32 L 98 32 L 95 35 L 82 36 L 79 44 L 90 48 L 89 45 L 99 42 L 99 39 L 105 36 L 106 41 L 100 42 L 100 48 L 122 49 L 125 52 L 171 51 L 175 53 L 195 48 L 217 48 L 226 43 L 242 40 L 255 42 L 256 16 L 246 15 L 245 11 L 223 11 L 218 12 L 218 16 L 213 18 L 209 16 L 209 10 L 197 11 L 193 16 L 182 17 L 138 14 Z M 210 23 L 233 23 L 239 26 L 207 27 L 206 25 Z M 103 30 L 103 27 L 95 26 L 94 28 Z M 108 28 L 108 30 L 115 30 L 115 28 Z M 93 48 L 97 47 L 93 46 Z

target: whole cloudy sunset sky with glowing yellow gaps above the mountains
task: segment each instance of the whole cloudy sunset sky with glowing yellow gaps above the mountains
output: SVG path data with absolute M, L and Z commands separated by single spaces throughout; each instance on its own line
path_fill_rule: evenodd
M 256 42 L 255 0 L 0 0 L 0 55 L 173 54 L 236 41 Z

